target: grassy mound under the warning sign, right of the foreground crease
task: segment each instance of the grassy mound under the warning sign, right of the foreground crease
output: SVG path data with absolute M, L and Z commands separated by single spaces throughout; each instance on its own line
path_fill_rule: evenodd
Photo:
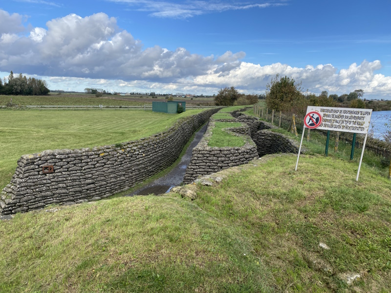
M 252 239 L 278 292 L 390 292 L 391 181 L 368 166 L 282 156 L 214 188 L 196 204 Z M 319 247 L 326 243 L 330 250 Z M 342 275 L 360 273 L 353 286 Z

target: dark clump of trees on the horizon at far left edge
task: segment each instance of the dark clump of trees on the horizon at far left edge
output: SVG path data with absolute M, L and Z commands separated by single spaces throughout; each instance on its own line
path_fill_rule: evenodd
M 44 80 L 36 79 L 34 77 L 27 78 L 22 76 L 15 77 L 11 71 L 8 79 L 0 79 L 0 95 L 24 95 L 24 96 L 45 96 L 50 90 Z

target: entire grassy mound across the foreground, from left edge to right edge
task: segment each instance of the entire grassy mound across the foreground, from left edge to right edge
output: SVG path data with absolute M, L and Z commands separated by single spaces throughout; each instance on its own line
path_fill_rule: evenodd
M 295 163 L 224 170 L 195 201 L 114 198 L 0 221 L 0 291 L 390 292 L 391 182 L 364 165 L 357 183 L 357 164 L 334 158 Z

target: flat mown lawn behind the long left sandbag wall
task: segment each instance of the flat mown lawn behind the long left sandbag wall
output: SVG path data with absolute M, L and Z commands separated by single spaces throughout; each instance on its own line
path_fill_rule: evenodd
M 0 189 L 18 159 L 45 149 L 116 144 L 168 129 L 179 118 L 202 110 L 168 115 L 151 111 L 3 111 L 0 115 Z

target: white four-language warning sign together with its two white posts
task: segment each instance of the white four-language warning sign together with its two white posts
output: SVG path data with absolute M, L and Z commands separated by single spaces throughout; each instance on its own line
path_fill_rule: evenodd
M 308 106 L 307 113 L 304 117 L 304 127 L 302 140 L 300 141 L 299 154 L 297 156 L 296 168 L 299 164 L 300 151 L 302 149 L 304 130 L 322 129 L 328 131 L 343 131 L 365 134 L 363 150 L 361 151 L 360 163 L 358 166 L 356 181 L 360 174 L 361 163 L 363 161 L 364 149 L 367 143 L 368 129 L 372 109 L 357 109 L 357 108 L 337 108 L 337 107 L 321 107 Z M 353 146 L 352 146 L 353 149 Z M 352 150 L 353 151 L 353 150 Z

